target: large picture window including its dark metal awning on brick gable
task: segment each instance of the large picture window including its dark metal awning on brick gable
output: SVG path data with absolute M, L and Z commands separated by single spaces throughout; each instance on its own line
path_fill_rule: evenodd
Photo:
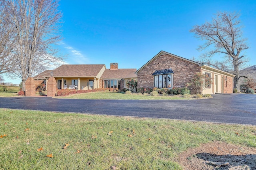
M 154 75 L 154 87 L 157 88 L 172 88 L 172 69 L 156 70 Z

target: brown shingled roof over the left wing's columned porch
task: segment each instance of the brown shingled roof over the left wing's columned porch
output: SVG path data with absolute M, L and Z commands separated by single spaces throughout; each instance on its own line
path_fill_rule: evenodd
M 54 77 L 96 77 L 105 64 L 63 64 L 53 70 Z

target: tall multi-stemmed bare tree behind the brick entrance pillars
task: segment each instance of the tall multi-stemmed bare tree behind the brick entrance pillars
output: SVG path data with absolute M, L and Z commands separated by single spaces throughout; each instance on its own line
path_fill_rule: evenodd
M 6 0 L 8 18 L 15 25 L 16 66 L 9 75 L 22 79 L 22 90 L 29 76 L 60 64 L 53 45 L 61 40 L 58 33 L 61 12 L 58 0 Z

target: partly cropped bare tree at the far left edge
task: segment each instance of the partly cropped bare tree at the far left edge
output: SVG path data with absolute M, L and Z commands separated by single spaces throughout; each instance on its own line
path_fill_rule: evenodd
M 16 65 L 14 26 L 8 21 L 10 14 L 5 0 L 0 0 L 0 74 L 10 72 Z

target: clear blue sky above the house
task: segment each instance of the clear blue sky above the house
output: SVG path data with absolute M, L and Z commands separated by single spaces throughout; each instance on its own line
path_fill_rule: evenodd
M 203 42 L 189 30 L 211 21 L 218 11 L 240 12 L 250 47 L 248 65 L 256 64 L 255 0 L 61 0 L 60 10 L 64 39 L 58 48 L 68 64 L 109 68 L 118 63 L 118 68 L 139 69 L 161 50 L 198 57 Z

